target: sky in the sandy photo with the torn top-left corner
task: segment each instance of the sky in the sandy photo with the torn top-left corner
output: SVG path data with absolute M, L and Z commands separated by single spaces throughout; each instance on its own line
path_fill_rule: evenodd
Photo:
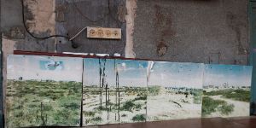
M 203 72 L 203 64 L 155 61 L 150 69 L 148 85 L 201 89 Z

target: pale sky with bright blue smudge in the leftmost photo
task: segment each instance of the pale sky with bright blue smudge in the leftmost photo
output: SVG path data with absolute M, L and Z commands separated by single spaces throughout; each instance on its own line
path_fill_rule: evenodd
M 47 66 L 57 67 L 51 69 Z M 42 65 L 43 64 L 43 65 Z M 49 57 L 38 55 L 9 55 L 7 79 L 55 80 L 82 82 L 83 59 L 74 57 Z

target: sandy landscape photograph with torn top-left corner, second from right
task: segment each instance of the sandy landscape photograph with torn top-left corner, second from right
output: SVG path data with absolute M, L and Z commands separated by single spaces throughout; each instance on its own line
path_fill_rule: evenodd
M 148 62 L 147 121 L 201 118 L 203 64 Z

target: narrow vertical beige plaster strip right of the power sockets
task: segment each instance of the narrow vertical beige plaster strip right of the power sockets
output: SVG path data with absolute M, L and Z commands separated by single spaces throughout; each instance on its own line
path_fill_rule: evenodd
M 134 19 L 136 17 L 137 0 L 126 0 L 126 46 L 125 57 L 135 58 L 133 51 L 133 32 L 134 32 Z

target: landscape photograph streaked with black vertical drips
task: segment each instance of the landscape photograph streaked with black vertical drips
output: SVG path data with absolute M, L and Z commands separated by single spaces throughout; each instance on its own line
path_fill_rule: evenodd
M 83 125 L 146 120 L 147 61 L 84 59 Z

